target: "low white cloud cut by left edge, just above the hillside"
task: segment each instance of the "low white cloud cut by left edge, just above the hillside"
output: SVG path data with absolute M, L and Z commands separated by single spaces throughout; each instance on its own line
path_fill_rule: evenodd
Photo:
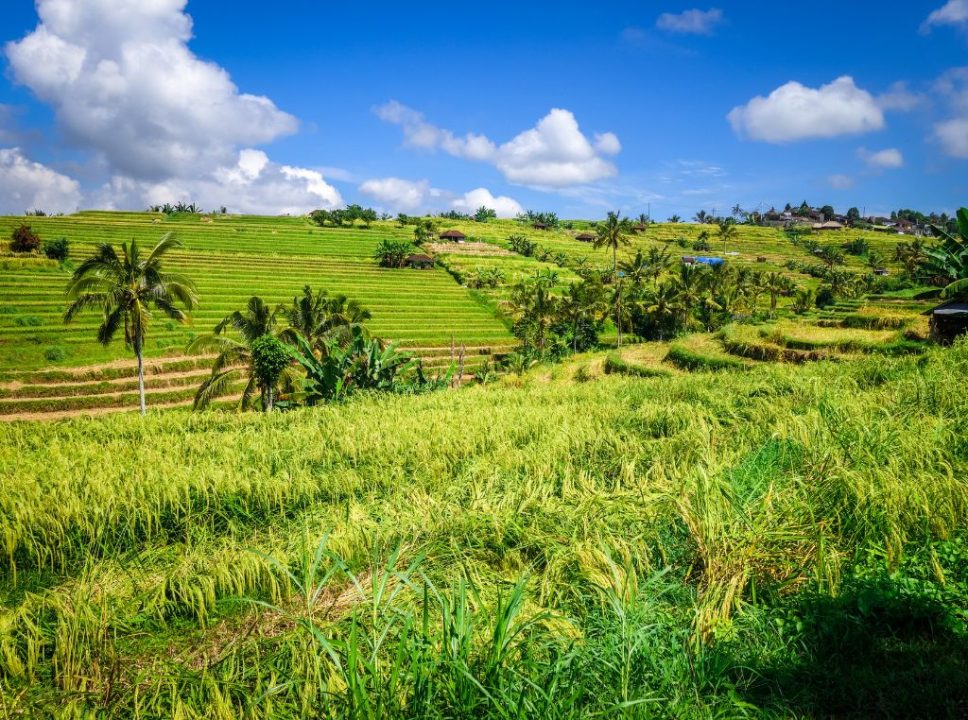
M 73 212 L 80 204 L 76 180 L 28 159 L 19 148 L 0 148 L 0 214 Z

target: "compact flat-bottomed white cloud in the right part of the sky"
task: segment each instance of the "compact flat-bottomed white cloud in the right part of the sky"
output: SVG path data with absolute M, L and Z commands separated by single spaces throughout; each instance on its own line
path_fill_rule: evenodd
M 884 113 L 874 97 L 844 75 L 814 89 L 788 82 L 727 115 L 736 134 L 770 143 L 832 138 L 880 130 Z

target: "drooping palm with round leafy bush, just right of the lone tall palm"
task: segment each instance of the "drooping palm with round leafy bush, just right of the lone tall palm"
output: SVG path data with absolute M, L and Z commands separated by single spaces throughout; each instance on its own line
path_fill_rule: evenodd
M 260 387 L 255 364 L 252 357 L 252 347 L 257 340 L 266 335 L 275 336 L 277 312 L 273 311 L 265 301 L 257 296 L 249 298 L 245 311 L 236 310 L 224 318 L 211 335 L 203 335 L 188 346 L 188 352 L 218 353 L 212 365 L 212 374 L 201 384 L 195 393 L 194 407 L 196 410 L 207 407 L 212 400 L 228 393 L 236 380 L 247 380 L 242 391 L 239 407 L 251 405 L 256 390 L 260 391 L 263 409 L 268 409 L 270 397 L 267 388 Z M 236 340 L 224 334 L 228 328 L 234 329 L 241 336 Z

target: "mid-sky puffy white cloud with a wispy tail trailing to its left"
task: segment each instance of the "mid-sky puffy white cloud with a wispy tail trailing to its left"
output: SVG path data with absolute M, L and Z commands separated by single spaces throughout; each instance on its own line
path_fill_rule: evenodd
M 510 182 L 537 187 L 567 187 L 615 175 L 605 156 L 622 146 L 614 133 L 601 133 L 590 141 L 574 114 L 552 109 L 538 124 L 498 145 L 475 133 L 456 135 L 439 128 L 423 114 L 391 101 L 375 109 L 377 117 L 403 129 L 404 143 L 423 150 L 442 150 L 454 157 L 494 165 Z

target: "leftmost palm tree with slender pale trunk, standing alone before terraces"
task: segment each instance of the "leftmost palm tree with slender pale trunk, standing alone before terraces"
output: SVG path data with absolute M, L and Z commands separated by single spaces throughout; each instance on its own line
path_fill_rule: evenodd
M 97 339 L 108 345 L 118 329 L 124 325 L 124 343 L 138 358 L 138 400 L 141 414 L 145 414 L 145 336 L 151 323 L 152 308 L 178 322 L 188 319 L 177 304 L 192 310 L 198 304 L 195 284 L 184 275 L 164 272 L 162 258 L 181 243 L 171 233 L 162 236 L 158 244 L 142 256 L 138 243 L 121 243 L 121 254 L 104 243 L 94 255 L 82 262 L 67 284 L 67 298 L 71 301 L 64 313 L 64 322 L 71 322 L 82 310 L 99 307 L 104 319 L 97 331 Z

